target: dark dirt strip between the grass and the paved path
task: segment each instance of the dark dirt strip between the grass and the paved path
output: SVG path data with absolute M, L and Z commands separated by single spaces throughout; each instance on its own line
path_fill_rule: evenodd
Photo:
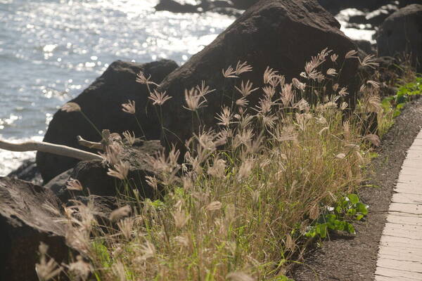
M 422 99 L 409 103 L 402 115 L 383 137 L 377 149 L 379 156 L 371 164 L 373 174 L 368 184 L 376 187 L 362 188 L 359 196 L 369 204 L 365 221 L 354 224 L 356 235 L 331 235 L 307 256 L 304 263 L 293 269 L 290 277 L 295 281 L 373 280 L 376 270 L 378 243 L 385 225 L 385 218 L 392 197 L 392 189 L 399 176 L 407 149 L 422 128 Z M 421 167 L 422 171 L 422 167 Z

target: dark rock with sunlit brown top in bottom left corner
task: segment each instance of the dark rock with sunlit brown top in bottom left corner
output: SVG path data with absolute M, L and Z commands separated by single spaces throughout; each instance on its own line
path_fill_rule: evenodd
M 59 206 L 46 188 L 15 178 L 0 178 L 0 280 L 38 280 L 39 242 L 59 264 L 69 255 L 63 225 L 52 220 L 46 204 Z

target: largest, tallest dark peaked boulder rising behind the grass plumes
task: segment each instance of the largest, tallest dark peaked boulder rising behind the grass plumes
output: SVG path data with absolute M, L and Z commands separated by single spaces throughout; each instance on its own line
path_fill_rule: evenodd
M 250 79 L 254 87 L 262 86 L 262 74 L 269 66 L 284 74 L 286 81 L 300 76 L 310 58 L 324 48 L 339 55 L 338 65 L 343 65 L 341 85 L 349 85 L 357 74 L 358 61 L 344 60 L 348 51 L 356 49 L 351 39 L 339 30 L 340 24 L 333 15 L 324 10 L 317 1 L 309 0 L 262 0 L 249 8 L 203 51 L 193 55 L 183 66 L 169 74 L 159 91 L 167 91 L 172 99 L 163 105 L 165 143 L 181 143 L 190 138 L 192 112 L 184 109 L 184 90 L 191 89 L 205 80 L 211 89 L 207 95 L 207 107 L 199 110 L 203 124 L 215 124 L 215 115 L 220 112 L 226 99 L 223 91 L 232 93 L 233 83 L 222 77 L 222 69 L 236 66 L 238 61 L 248 61 L 253 72 L 243 74 L 243 81 Z M 231 85 L 229 85 L 231 84 Z M 350 89 L 350 104 L 354 103 L 354 91 Z M 250 105 L 256 105 L 260 96 L 248 96 Z M 223 102 L 222 102 L 223 101 Z M 168 132 L 171 133 L 168 133 Z M 168 141 L 168 142 L 167 142 Z M 182 146 L 182 145 L 180 145 Z

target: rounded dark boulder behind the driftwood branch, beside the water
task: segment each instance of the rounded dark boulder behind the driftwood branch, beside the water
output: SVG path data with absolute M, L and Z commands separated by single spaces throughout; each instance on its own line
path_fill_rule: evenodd
M 151 74 L 152 81 L 160 83 L 167 74 L 176 68 L 177 64 L 172 60 L 160 60 L 145 64 L 117 60 L 91 86 L 70 101 L 82 107 L 82 112 L 98 131 L 110 129 L 115 133 L 122 133 L 129 130 L 134 131 L 136 136 L 142 136 L 145 133 L 146 138 L 155 139 L 160 136 L 160 126 L 145 122 L 148 119 L 145 109 L 150 104 L 148 103 L 148 91 L 145 85 L 136 83 L 136 74 L 142 70 L 146 77 Z M 142 128 L 139 127 L 133 115 L 122 112 L 121 104 L 127 103 L 127 100 L 135 100 L 136 117 L 142 122 Z M 151 108 L 149 113 L 155 114 L 155 111 Z M 80 112 L 59 110 L 49 124 L 44 141 L 87 150 L 77 143 L 76 137 L 79 135 L 90 141 L 101 141 L 101 136 L 96 129 Z M 90 151 L 92 152 L 92 150 Z M 77 159 L 69 157 L 44 152 L 37 153 L 37 166 L 44 183 L 72 168 L 77 162 Z

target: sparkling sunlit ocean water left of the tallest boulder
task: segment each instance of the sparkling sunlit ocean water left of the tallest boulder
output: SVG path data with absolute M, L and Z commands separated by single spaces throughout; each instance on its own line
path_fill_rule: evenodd
M 0 138 L 42 140 L 54 112 L 114 60 L 182 64 L 235 20 L 156 0 L 0 0 Z M 34 152 L 0 150 L 0 176 Z

